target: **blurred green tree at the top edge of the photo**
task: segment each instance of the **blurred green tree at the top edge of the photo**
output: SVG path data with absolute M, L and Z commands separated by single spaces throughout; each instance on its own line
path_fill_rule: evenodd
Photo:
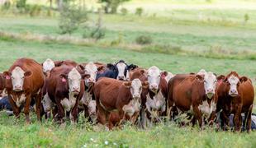
M 119 7 L 119 5 L 122 2 L 127 2 L 127 1 L 130 1 L 130 0 L 99 0 L 99 2 L 105 3 L 105 6 L 104 6 L 105 13 L 109 13 L 109 12 L 116 13 L 117 7 Z

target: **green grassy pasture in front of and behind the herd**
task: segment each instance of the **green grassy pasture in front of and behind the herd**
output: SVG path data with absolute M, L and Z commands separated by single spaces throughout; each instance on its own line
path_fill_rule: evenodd
M 132 7 L 150 7 L 142 2 L 128 2 Z M 151 1 L 150 1 L 151 2 Z M 154 3 L 154 1 L 152 1 Z M 163 5 L 167 1 L 161 1 Z M 173 1 L 174 3 L 176 1 Z M 227 1 L 228 2 L 228 1 Z M 167 2 L 168 3 L 168 2 Z M 239 3 L 239 1 L 238 1 Z M 255 3 L 254 3 L 255 4 Z M 162 6 L 163 6 L 162 5 Z M 206 4 L 202 4 L 205 6 Z M 216 4 L 217 5 L 217 4 Z M 17 58 L 27 57 L 38 62 L 72 59 L 76 62 L 116 62 L 125 59 L 140 67 L 155 65 L 168 72 L 198 72 L 201 68 L 216 74 L 239 72 L 255 81 L 256 76 L 256 9 L 238 7 L 197 8 L 200 2 L 170 4 L 162 12 L 145 12 L 145 16 L 127 14 L 104 15 L 106 36 L 98 42 L 73 44 L 39 39 L 15 38 L 0 35 L 0 71 L 5 71 Z M 179 6 L 179 7 L 178 7 Z M 218 6 L 218 5 L 217 5 Z M 251 6 L 250 1 L 245 6 Z M 151 6 L 152 7 L 152 6 Z M 161 5 L 159 6 L 161 7 Z M 196 9 L 196 8 L 197 9 Z M 169 9 L 168 9 L 169 8 Z M 167 9 L 167 10 L 166 10 Z M 156 13 L 156 15 L 154 15 Z M 243 25 L 244 14 L 249 21 Z M 97 20 L 90 13 L 88 25 Z M 209 19 L 210 18 L 210 19 Z M 52 17 L 1 14 L 0 31 L 7 34 L 59 36 L 58 15 Z M 81 39 L 83 30 L 76 30 L 66 38 Z M 153 44 L 135 44 L 138 35 L 149 35 Z M 119 44 L 111 44 L 120 41 Z M 171 51 L 158 49 L 168 47 Z M 176 51 L 176 50 L 177 51 Z M 174 50 L 174 51 L 173 51 Z M 254 83 L 255 86 L 255 83 Z M 254 101 L 255 102 L 255 101 Z M 254 103 L 255 104 L 255 103 Z M 255 108 L 254 108 L 255 112 Z M 85 123 L 79 118 L 75 126 L 59 127 L 54 122 L 36 122 L 25 125 L 20 120 L 0 112 L 0 146 L 2 147 L 255 147 L 256 132 L 216 132 L 214 127 L 200 130 L 198 127 L 178 127 L 175 123 L 159 123 L 141 130 L 126 124 L 123 129 L 107 132 L 105 129 Z

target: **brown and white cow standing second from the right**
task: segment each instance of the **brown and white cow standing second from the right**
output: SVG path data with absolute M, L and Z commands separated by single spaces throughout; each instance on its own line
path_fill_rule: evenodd
M 172 105 L 183 113 L 189 112 L 192 114 L 197 119 L 200 127 L 204 123 L 204 118 L 213 123 L 216 117 L 218 99 L 216 75 L 212 72 L 204 72 L 203 75 L 174 76 L 169 85 L 173 85 L 175 79 L 182 81 L 177 81 L 178 84 L 175 86 L 169 86 L 173 89 L 172 96 L 168 98 L 172 99 L 169 100 L 173 102 Z

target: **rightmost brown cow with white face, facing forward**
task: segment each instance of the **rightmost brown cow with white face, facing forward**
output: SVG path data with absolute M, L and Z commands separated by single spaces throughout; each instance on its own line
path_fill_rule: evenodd
M 229 127 L 230 113 L 234 113 L 235 131 L 240 131 L 242 126 L 241 113 L 244 113 L 244 127 L 251 130 L 251 113 L 254 104 L 254 86 L 246 76 L 239 76 L 237 72 L 230 72 L 218 87 L 217 110 L 220 113 L 221 127 Z M 245 122 L 247 121 L 247 122 Z

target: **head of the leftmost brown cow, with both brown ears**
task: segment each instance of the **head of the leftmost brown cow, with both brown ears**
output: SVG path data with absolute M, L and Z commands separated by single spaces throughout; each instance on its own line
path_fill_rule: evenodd
M 12 81 L 12 90 L 14 91 L 22 91 L 25 79 L 31 74 L 31 71 L 25 72 L 21 67 L 15 67 L 12 72 L 3 72 L 5 79 Z

